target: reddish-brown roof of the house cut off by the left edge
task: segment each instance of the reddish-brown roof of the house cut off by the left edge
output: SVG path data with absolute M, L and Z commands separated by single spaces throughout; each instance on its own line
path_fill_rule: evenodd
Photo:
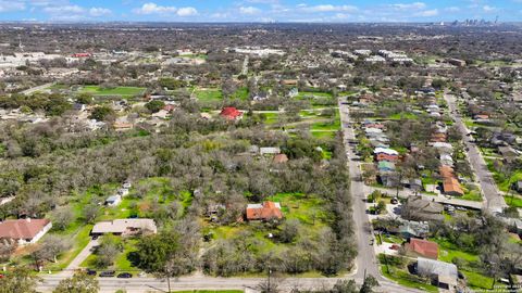
M 0 239 L 33 239 L 50 220 L 48 219 L 17 219 L 0 222 Z

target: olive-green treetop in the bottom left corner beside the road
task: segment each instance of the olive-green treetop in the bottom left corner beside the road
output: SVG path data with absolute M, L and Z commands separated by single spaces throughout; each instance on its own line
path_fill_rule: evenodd
M 40 279 L 33 276 L 28 268 L 18 267 L 0 279 L 1 293 L 33 293 L 36 292 L 36 285 Z

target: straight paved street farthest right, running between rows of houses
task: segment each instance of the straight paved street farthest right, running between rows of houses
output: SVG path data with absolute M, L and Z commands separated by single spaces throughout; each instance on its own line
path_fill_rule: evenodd
M 470 138 L 468 133 L 470 132 L 469 129 L 465 127 L 465 124 L 462 122 L 462 118 L 457 113 L 457 99 L 455 95 L 445 92 L 444 99 L 448 103 L 449 110 L 451 112 L 451 116 L 455 119 L 455 124 L 459 128 L 460 132 L 463 137 L 464 145 L 468 150 L 468 157 L 471 162 L 471 167 L 473 168 L 475 175 L 478 178 L 478 182 L 481 183 L 482 193 L 485 199 L 485 207 L 489 212 L 502 212 L 504 207 L 507 206 L 506 201 L 500 195 L 498 191 L 497 184 L 492 177 L 492 174 L 487 169 L 486 162 L 482 156 L 481 151 L 478 148 L 470 142 Z

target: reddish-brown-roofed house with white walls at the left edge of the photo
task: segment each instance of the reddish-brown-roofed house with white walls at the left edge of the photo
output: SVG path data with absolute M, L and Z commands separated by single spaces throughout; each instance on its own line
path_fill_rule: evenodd
M 18 245 L 33 244 L 40 240 L 50 229 L 49 219 L 16 219 L 0 222 L 0 239 L 17 242 Z

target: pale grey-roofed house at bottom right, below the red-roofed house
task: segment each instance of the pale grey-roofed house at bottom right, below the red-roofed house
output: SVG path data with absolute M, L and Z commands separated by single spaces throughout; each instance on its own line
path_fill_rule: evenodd
M 424 257 L 417 258 L 417 271 L 419 276 L 428 277 L 433 284 L 446 290 L 452 290 L 459 278 L 456 265 Z

